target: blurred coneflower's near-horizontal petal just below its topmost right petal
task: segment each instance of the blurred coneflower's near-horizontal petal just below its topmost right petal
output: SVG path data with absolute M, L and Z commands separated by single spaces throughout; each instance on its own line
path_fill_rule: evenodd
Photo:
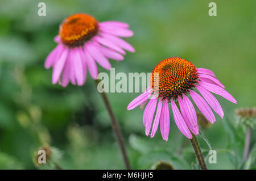
M 133 31 L 127 30 L 125 28 L 117 27 L 100 27 L 100 31 L 109 33 L 110 35 L 121 36 L 121 37 L 130 37 L 133 36 Z

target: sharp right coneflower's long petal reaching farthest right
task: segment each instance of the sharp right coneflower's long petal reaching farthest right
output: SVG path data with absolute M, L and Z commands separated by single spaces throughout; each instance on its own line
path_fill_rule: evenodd
M 234 99 L 233 96 L 230 95 L 228 91 L 222 89 L 219 86 L 216 86 L 207 82 L 199 82 L 199 85 L 210 92 L 221 95 L 222 97 L 224 97 L 225 99 L 228 99 L 232 103 L 237 103 L 236 99 Z

